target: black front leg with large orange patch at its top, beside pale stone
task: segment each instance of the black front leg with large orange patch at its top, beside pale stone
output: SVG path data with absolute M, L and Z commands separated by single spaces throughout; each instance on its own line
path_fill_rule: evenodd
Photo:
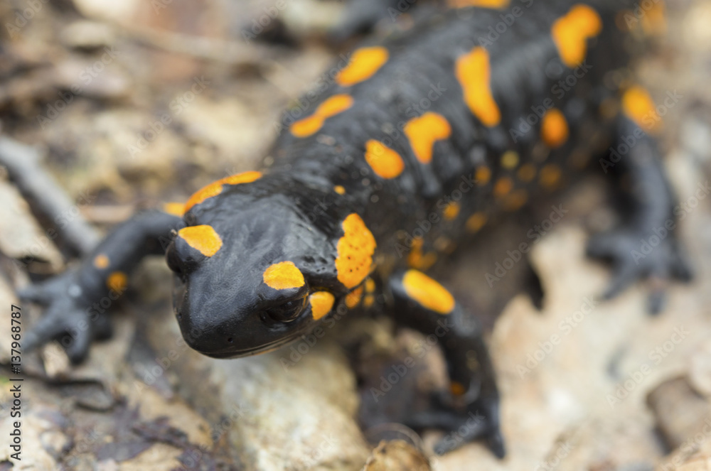
M 435 447 L 439 454 L 483 438 L 494 455 L 503 458 L 498 388 L 479 322 L 420 271 L 394 274 L 390 291 L 397 323 L 437 336 L 451 381 L 450 394 L 436 396 L 430 410 L 415 414 L 407 425 L 453 431 Z

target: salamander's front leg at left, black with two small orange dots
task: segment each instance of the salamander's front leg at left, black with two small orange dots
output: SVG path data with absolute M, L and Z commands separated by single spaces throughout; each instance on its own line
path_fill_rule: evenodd
M 163 254 L 181 221 L 166 212 L 142 212 L 114 229 L 80 266 L 19 290 L 21 299 L 47 306 L 23 349 L 60 340 L 73 363 L 85 359 L 92 340 L 111 335 L 103 312 L 125 291 L 128 274 L 144 256 Z

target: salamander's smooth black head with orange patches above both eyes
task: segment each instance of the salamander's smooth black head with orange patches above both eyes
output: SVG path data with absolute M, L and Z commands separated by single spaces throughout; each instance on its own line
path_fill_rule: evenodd
M 228 189 L 185 220 L 166 252 L 176 274 L 173 305 L 188 345 L 210 357 L 295 340 L 352 288 L 336 268 L 340 224 L 316 227 L 284 195 Z

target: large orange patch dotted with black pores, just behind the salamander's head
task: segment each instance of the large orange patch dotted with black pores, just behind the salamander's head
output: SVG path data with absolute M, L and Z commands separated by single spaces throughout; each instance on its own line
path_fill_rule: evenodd
M 375 252 L 375 237 L 365 226 L 360 216 L 348 215 L 343 220 L 343 237 L 338 239 L 336 271 L 338 281 L 346 288 L 354 288 L 370 274 Z

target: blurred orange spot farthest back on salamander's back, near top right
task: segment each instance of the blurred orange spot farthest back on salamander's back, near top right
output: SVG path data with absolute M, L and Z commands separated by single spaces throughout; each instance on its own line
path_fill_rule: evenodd
M 577 4 L 551 28 L 560 59 L 568 67 L 577 67 L 587 53 L 587 40 L 602 31 L 602 19 L 590 6 Z

